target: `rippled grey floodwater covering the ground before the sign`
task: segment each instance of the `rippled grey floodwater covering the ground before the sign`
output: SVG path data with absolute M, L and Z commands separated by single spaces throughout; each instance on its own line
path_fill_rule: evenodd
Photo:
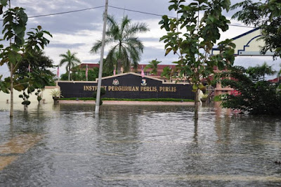
M 0 186 L 281 186 L 281 118 L 191 106 L 0 112 Z

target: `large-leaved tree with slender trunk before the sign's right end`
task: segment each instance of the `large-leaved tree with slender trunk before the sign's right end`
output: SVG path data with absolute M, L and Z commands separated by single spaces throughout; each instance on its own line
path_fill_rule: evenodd
M 216 41 L 220 39 L 220 30 L 228 30 L 229 20 L 222 15 L 223 10 L 228 11 L 230 0 L 208 1 L 195 0 L 186 5 L 185 0 L 169 1 L 169 11 L 176 11 L 176 18 L 162 16 L 159 22 L 166 35 L 161 37 L 164 41 L 166 53 L 171 51 L 178 56 L 175 72 L 179 77 L 189 80 L 195 91 L 195 120 L 198 118 L 198 93 L 204 89 L 202 79 L 207 79 L 214 73 L 214 67 L 223 70 L 234 62 L 235 44 L 226 39 L 218 43 L 220 54 L 210 56 L 210 51 Z M 199 12 L 204 16 L 199 20 Z M 200 22 L 199 22 L 200 21 Z M 197 25 L 197 23 L 199 24 Z

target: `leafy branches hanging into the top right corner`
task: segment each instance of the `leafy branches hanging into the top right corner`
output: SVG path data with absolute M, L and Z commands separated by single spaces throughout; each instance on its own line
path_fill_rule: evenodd
M 265 2 L 242 1 L 231 7 L 233 10 L 240 8 L 233 18 L 237 18 L 246 25 L 260 27 L 265 41 L 261 53 L 274 52 L 274 57 L 281 57 L 281 1 L 266 0 Z

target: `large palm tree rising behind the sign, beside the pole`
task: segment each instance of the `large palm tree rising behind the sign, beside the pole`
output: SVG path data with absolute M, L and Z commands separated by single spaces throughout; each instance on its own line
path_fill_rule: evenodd
M 121 23 L 117 23 L 113 16 L 108 15 L 107 25 L 105 45 L 112 44 L 112 46 L 105 60 L 105 63 L 110 63 L 110 65 L 105 64 L 105 66 L 113 67 L 115 65 L 118 74 L 121 72 L 121 67 L 123 67 L 124 72 L 129 72 L 131 65 L 136 69 L 144 48 L 136 34 L 147 32 L 149 30 L 148 25 L 145 23 L 132 24 L 127 15 L 122 18 Z M 91 53 L 99 51 L 101 42 L 99 40 L 93 44 Z

